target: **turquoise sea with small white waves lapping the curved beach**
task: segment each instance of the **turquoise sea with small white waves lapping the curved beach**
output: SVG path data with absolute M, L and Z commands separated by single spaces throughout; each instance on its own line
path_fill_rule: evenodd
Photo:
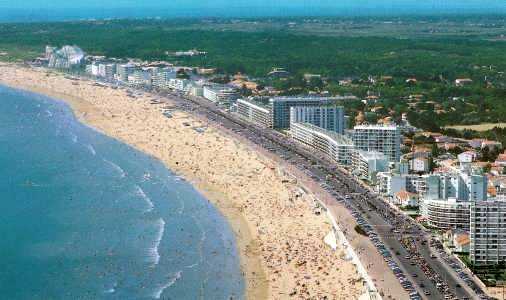
M 0 86 L 1 299 L 233 299 L 223 216 L 159 161 Z

